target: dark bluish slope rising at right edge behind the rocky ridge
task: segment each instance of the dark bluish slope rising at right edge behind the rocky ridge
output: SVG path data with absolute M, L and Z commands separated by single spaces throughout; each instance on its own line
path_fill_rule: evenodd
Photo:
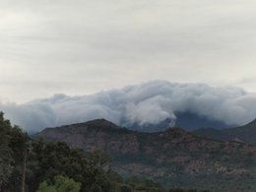
M 256 144 L 256 119 L 250 123 L 229 129 L 202 128 L 194 131 L 196 135 L 221 141 L 237 141 Z

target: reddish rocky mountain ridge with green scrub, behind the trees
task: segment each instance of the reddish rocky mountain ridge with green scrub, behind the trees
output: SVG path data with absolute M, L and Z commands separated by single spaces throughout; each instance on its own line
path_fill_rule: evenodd
M 142 133 L 98 119 L 47 128 L 36 137 L 86 151 L 100 149 L 110 154 L 119 173 L 141 174 L 169 187 L 248 192 L 256 188 L 256 147 L 204 139 L 180 128 Z

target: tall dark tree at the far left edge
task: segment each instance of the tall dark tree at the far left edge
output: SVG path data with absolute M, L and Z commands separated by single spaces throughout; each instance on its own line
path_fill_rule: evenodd
M 0 112 L 0 189 L 15 191 L 22 187 L 23 167 L 29 137 L 18 126 L 12 126 Z

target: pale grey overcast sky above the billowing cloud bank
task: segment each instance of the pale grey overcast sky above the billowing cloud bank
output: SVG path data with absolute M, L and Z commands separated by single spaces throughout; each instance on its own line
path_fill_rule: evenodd
M 252 0 L 0 0 L 0 101 L 150 80 L 256 92 Z

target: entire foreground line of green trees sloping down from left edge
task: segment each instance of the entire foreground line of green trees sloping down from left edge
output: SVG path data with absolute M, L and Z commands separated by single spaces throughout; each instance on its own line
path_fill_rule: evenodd
M 123 179 L 100 152 L 32 140 L 0 112 L 0 192 L 172 192 L 148 179 Z

